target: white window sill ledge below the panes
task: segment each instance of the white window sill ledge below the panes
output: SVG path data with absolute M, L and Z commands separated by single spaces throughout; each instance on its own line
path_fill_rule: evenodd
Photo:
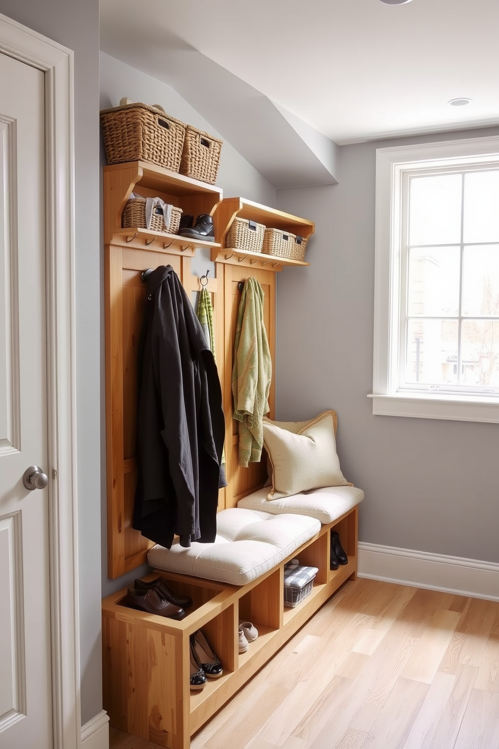
M 373 395 L 376 416 L 409 416 L 415 419 L 453 419 L 454 421 L 499 424 L 499 398 L 466 398 L 463 395 Z

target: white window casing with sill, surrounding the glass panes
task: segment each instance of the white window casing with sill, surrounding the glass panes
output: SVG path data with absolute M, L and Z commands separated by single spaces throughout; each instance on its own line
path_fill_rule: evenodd
M 373 413 L 499 423 L 499 395 L 399 389 L 402 182 L 406 172 L 491 163 L 499 137 L 376 149 Z

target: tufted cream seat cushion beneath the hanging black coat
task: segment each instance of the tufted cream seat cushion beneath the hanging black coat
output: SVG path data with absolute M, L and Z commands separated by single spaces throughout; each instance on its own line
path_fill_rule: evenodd
M 212 544 L 192 543 L 171 549 L 156 544 L 147 554 L 151 567 L 245 585 L 280 564 L 320 530 L 320 522 L 303 514 L 274 515 L 260 509 L 232 507 L 217 515 Z

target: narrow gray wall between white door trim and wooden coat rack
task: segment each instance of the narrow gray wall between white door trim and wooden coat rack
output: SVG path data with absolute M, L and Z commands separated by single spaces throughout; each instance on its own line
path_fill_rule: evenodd
M 0 0 L 75 52 L 76 367 L 82 723 L 102 709 L 100 649 L 99 0 Z

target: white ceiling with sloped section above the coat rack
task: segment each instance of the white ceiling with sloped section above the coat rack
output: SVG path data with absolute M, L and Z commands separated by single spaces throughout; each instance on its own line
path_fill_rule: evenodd
M 275 187 L 337 181 L 337 143 L 499 123 L 497 0 L 101 0 L 100 15 L 104 52 L 173 86 Z

